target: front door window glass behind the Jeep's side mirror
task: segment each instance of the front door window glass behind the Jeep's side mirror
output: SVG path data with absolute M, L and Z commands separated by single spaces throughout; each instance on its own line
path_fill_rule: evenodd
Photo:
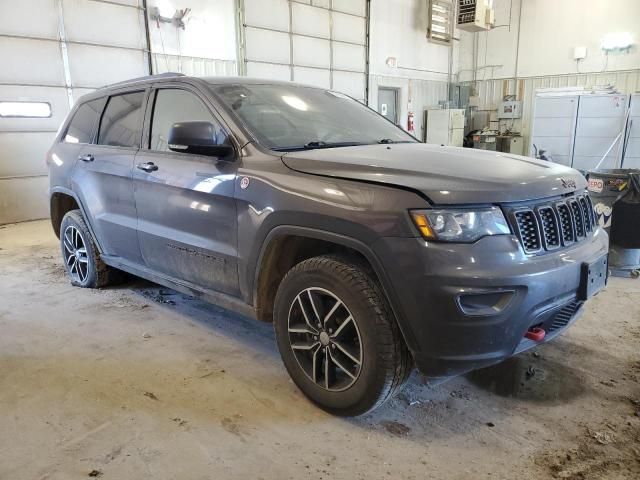
M 149 148 L 168 152 L 169 130 L 175 123 L 209 122 L 213 125 L 216 145 L 228 143 L 227 134 L 202 101 L 191 92 L 178 89 L 162 89 L 156 93 L 151 122 Z

